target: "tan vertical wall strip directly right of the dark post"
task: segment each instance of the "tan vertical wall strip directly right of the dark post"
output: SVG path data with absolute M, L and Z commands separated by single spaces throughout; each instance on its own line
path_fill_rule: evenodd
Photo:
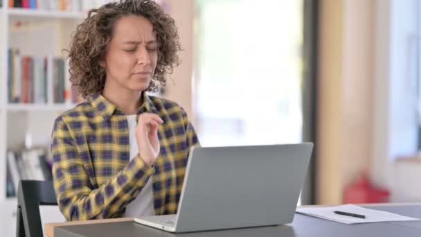
M 341 195 L 343 110 L 343 2 L 319 1 L 319 98 L 316 204 L 338 203 Z

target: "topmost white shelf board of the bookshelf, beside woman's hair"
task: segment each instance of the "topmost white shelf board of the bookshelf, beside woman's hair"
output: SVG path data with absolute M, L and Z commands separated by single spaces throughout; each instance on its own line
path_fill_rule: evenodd
M 44 19 L 84 19 L 82 12 L 62 12 L 49 10 L 31 10 L 24 8 L 9 8 L 8 15 L 21 18 L 44 18 Z

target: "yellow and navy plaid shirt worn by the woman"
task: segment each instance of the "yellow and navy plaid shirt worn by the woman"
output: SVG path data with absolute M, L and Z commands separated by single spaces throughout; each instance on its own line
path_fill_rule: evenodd
M 188 152 L 198 144 L 195 130 L 176 103 L 145 93 L 143 101 L 137 118 L 151 112 L 163 119 L 161 150 L 152 168 L 139 155 L 130 161 L 127 116 L 101 95 L 55 120 L 53 180 L 67 220 L 123 216 L 151 177 L 155 214 L 177 213 Z

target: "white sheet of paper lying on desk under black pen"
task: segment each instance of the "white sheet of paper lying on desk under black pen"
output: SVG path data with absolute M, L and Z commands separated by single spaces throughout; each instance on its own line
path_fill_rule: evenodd
M 343 215 L 334 213 L 334 211 L 344 211 L 348 213 L 355 213 L 355 214 L 366 216 L 366 218 L 343 216 Z M 401 216 L 401 215 L 390 213 L 387 211 L 377 211 L 373 209 L 366 209 L 364 207 L 359 207 L 352 204 L 346 204 L 346 205 L 335 206 L 335 207 L 297 207 L 296 212 L 302 213 L 308 216 L 323 218 L 326 220 L 342 222 L 345 224 L 420 220 L 416 218 L 410 218 L 407 216 Z

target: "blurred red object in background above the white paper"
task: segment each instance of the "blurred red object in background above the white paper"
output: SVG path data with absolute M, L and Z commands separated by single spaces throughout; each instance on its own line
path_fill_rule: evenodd
M 361 175 L 356 182 L 343 190 L 343 203 L 378 203 L 388 202 L 389 191 L 375 188 L 370 184 L 366 175 Z

